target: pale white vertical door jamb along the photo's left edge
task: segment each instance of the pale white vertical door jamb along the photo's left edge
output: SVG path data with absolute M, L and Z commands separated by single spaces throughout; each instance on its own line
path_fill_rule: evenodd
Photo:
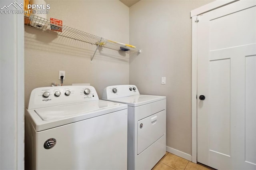
M 23 2 L 17 0 L 18 3 Z M 0 1 L 0 7 L 10 1 Z M 10 9 L 10 8 L 9 8 Z M 24 169 L 24 19 L 0 14 L 0 169 Z

